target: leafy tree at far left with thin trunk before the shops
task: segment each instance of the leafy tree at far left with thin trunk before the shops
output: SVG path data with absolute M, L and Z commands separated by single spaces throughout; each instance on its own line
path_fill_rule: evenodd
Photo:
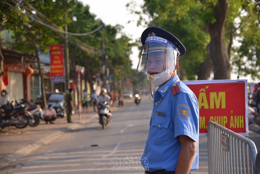
M 6 15 L 10 14 L 3 28 L 10 29 L 14 32 L 15 48 L 17 50 L 29 54 L 34 53 L 37 58 L 41 77 L 43 106 L 46 106 L 45 85 L 38 52 L 47 52 L 49 45 L 57 43 L 55 39 L 59 38 L 60 35 L 58 32 L 43 26 L 38 21 L 49 23 L 49 25 L 58 26 L 62 29 L 65 23 L 64 15 L 69 11 L 74 1 L 11 1 L 15 6 L 10 6 L 7 2 L 5 2 L 5 4 L 12 7 L 10 8 L 12 11 L 18 12 L 18 15 L 15 16 L 10 12 L 1 10 L 2 13 Z

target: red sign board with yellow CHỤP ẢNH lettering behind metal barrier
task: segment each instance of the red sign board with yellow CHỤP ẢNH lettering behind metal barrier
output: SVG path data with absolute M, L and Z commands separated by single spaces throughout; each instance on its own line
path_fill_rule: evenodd
M 248 136 L 247 80 L 197 80 L 183 83 L 198 99 L 200 136 L 207 135 L 209 120 Z

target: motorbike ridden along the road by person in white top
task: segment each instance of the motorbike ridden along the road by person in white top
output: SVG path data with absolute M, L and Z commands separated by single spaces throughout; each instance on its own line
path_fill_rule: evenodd
M 109 110 L 109 104 L 107 102 L 100 102 L 98 109 L 99 123 L 102 125 L 102 128 L 105 129 L 112 116 L 112 113 Z

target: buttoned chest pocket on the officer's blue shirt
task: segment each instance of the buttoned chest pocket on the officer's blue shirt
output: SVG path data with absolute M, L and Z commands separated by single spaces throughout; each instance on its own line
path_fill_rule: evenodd
M 150 132 L 151 143 L 158 145 L 170 144 L 170 129 L 167 129 L 170 119 L 155 116 L 154 121 L 151 123 L 152 128 Z

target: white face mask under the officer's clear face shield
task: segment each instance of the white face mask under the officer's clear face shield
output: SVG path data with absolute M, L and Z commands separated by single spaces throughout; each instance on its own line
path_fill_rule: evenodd
M 146 76 L 149 80 L 149 76 L 150 74 L 146 73 Z M 163 84 L 164 82 L 166 82 L 167 80 L 169 80 L 172 77 L 170 70 L 166 69 L 165 71 L 159 73 L 159 74 L 155 74 L 153 75 L 153 79 L 151 80 L 151 83 L 153 84 L 153 87 L 157 87 L 161 84 Z

